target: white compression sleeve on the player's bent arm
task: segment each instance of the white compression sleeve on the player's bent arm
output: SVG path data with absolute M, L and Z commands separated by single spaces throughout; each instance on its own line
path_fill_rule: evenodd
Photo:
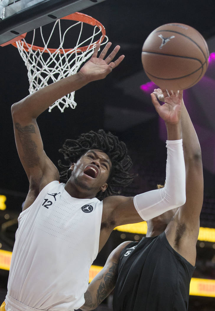
M 134 206 L 143 220 L 157 217 L 186 202 L 185 164 L 182 139 L 167 140 L 165 186 L 134 197 Z

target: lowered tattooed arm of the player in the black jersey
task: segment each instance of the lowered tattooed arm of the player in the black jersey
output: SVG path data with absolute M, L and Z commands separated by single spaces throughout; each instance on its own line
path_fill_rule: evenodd
M 111 293 L 118 275 L 119 255 L 131 241 L 126 241 L 110 253 L 103 269 L 90 282 L 84 294 L 85 303 L 82 311 L 94 310 Z

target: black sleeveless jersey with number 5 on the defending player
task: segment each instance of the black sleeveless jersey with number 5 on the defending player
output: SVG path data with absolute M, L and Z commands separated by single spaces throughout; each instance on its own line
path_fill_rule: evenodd
M 165 232 L 128 244 L 120 254 L 114 311 L 187 311 L 195 270 Z

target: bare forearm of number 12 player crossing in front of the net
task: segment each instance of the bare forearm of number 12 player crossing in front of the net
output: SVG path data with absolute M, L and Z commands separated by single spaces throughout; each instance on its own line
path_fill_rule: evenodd
M 12 115 L 13 117 L 18 115 L 19 118 L 25 118 L 26 120 L 37 118 L 56 100 L 80 89 L 88 82 L 90 81 L 81 72 L 61 79 L 13 104 L 11 107 Z

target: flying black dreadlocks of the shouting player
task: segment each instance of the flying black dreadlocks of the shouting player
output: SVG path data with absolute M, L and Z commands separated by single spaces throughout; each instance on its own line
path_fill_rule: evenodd
M 81 134 L 77 140 L 67 139 L 65 141 L 59 152 L 64 155 L 67 165 L 62 164 L 61 160 L 58 161 L 58 165 L 62 168 L 60 177 L 67 181 L 71 175 L 69 170 L 71 164 L 77 162 L 90 149 L 99 149 L 105 152 L 112 163 L 108 188 L 105 192 L 97 193 L 96 197 L 102 200 L 110 195 L 118 195 L 119 189 L 128 186 L 135 177 L 128 172 L 132 166 L 132 161 L 128 156 L 125 143 L 119 141 L 118 137 L 112 133 L 105 133 L 104 130 L 90 131 Z

